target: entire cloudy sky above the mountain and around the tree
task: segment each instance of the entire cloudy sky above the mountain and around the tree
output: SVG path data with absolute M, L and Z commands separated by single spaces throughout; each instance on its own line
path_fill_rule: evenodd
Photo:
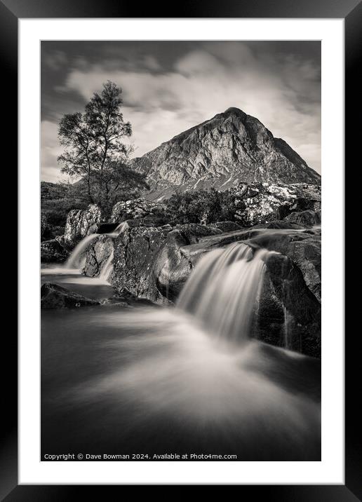
M 133 156 L 229 107 L 257 117 L 321 172 L 319 41 L 43 41 L 41 179 L 65 179 L 58 123 L 102 83 L 122 89 Z

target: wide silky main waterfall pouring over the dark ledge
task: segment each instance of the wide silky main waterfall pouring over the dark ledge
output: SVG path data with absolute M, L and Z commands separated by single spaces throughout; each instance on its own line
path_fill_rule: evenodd
M 189 276 L 177 306 L 220 339 L 248 339 L 268 254 L 243 243 L 208 252 Z

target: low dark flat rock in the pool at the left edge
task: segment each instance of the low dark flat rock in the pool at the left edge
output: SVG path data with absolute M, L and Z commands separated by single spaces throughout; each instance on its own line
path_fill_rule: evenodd
M 41 308 L 78 308 L 99 305 L 100 302 L 53 283 L 41 286 Z

